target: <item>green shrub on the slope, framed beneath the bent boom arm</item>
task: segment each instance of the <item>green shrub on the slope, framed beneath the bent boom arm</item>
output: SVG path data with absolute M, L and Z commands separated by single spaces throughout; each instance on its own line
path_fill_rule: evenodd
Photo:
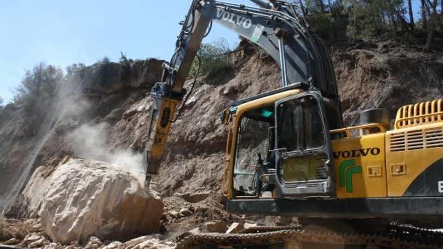
M 225 39 L 219 39 L 212 43 L 204 43 L 200 46 L 197 55 L 200 57 L 200 75 L 212 76 L 220 70 L 233 66 L 231 56 L 232 50 Z M 198 70 L 198 59 L 195 58 L 192 63 L 190 75 L 195 75 Z

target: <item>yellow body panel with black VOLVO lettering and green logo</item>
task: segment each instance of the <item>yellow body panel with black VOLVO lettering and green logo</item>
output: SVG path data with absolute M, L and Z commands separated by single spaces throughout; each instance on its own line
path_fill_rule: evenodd
M 386 197 L 385 133 L 332 141 L 338 198 Z

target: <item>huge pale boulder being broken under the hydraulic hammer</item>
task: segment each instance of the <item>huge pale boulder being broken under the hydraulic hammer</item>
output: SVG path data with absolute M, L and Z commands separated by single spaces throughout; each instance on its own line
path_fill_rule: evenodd
M 163 203 L 136 176 L 101 161 L 70 159 L 50 178 L 41 209 L 45 233 L 60 243 L 125 239 L 158 232 Z

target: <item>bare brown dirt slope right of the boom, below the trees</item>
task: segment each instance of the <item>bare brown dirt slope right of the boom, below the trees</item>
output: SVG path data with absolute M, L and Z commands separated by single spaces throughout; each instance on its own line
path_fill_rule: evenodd
M 343 118 L 355 124 L 358 113 L 385 108 L 394 119 L 403 105 L 443 96 L 443 55 L 423 53 L 421 47 L 393 42 L 359 43 L 334 49 Z

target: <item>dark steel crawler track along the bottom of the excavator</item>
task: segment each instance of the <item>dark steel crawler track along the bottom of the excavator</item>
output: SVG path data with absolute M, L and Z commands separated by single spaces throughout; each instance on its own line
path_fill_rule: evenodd
M 307 231 L 302 227 L 277 231 L 264 231 L 262 228 L 256 230 L 258 232 L 238 234 L 190 234 L 182 237 L 176 248 L 252 248 L 285 244 L 284 248 L 298 249 L 303 248 L 304 243 L 361 245 L 366 248 L 443 248 L 443 233 L 409 226 L 391 227 L 383 234 Z

